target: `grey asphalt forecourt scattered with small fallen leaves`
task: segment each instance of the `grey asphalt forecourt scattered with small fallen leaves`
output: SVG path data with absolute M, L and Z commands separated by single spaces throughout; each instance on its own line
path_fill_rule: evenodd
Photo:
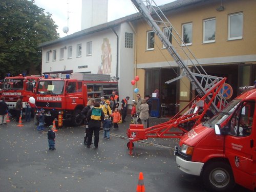
M 168 119 L 151 118 L 150 125 Z M 136 191 L 139 173 L 147 192 L 205 191 L 200 177 L 184 174 L 173 155 L 175 139 L 135 142 L 129 155 L 126 129 L 130 119 L 111 131 L 99 148 L 83 145 L 84 127 L 66 124 L 56 132 L 56 151 L 48 150 L 47 131 L 33 121 L 0 126 L 0 191 Z M 248 191 L 236 187 L 234 191 Z

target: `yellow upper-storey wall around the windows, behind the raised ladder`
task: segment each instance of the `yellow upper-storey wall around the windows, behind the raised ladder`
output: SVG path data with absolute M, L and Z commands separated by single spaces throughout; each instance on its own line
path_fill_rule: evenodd
M 193 45 L 188 47 L 197 59 L 256 54 L 256 1 L 227 0 L 223 1 L 222 5 L 225 9 L 220 12 L 216 10 L 220 6 L 220 1 L 214 1 L 214 3 L 204 6 L 194 6 L 185 10 L 183 8 L 183 10 L 172 11 L 167 17 L 179 35 L 181 35 L 182 24 L 193 23 Z M 240 40 L 227 40 L 228 14 L 236 12 L 243 12 L 243 38 Z M 202 44 L 203 19 L 212 17 L 216 17 L 216 41 Z M 162 43 L 157 36 L 155 36 L 155 50 L 146 51 L 146 31 L 151 31 L 152 29 L 143 18 L 135 22 L 134 25 L 138 35 L 138 64 L 173 60 L 166 50 L 161 49 Z M 177 44 L 173 44 L 175 47 L 177 46 Z M 176 50 L 179 52 L 179 49 Z

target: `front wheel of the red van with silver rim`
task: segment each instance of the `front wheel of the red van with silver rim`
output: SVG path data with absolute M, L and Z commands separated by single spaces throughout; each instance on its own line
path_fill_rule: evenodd
M 210 191 L 231 191 L 235 185 L 232 169 L 225 162 L 206 164 L 202 176 L 205 187 Z

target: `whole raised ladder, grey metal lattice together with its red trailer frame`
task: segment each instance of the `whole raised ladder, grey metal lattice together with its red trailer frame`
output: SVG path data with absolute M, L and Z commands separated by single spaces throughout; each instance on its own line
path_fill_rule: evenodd
M 143 125 L 130 125 L 130 128 L 127 129 L 127 136 L 130 140 L 127 143 L 127 147 L 130 149 L 130 154 L 132 154 L 134 141 L 147 138 L 181 138 L 185 133 L 202 122 L 203 118 L 209 117 L 209 114 L 216 114 L 227 104 L 222 94 L 226 77 L 211 76 L 205 72 L 196 57 L 188 49 L 183 39 L 153 0 L 131 1 L 140 11 L 148 25 L 151 26 L 155 34 L 160 38 L 168 53 L 181 69 L 181 75 L 179 77 L 166 81 L 165 83 L 170 83 L 186 76 L 193 88 L 197 91 L 198 96 L 167 122 L 146 129 L 143 129 Z M 164 34 L 159 27 L 160 25 L 168 29 L 168 32 Z M 169 35 L 172 35 L 175 44 L 169 41 Z M 180 54 L 175 49 L 176 44 L 178 45 Z M 193 67 L 193 72 L 188 66 Z M 188 110 L 185 111 L 186 109 Z M 175 130 L 170 131 L 173 128 Z M 177 129 L 180 131 L 177 131 Z

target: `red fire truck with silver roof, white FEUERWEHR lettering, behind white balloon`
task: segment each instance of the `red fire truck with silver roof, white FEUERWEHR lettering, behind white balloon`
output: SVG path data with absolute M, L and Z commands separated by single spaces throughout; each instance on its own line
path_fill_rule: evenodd
M 56 119 L 58 126 L 62 120 L 71 120 L 74 126 L 82 123 L 81 110 L 88 99 L 110 98 L 118 91 L 118 82 L 111 81 L 110 75 L 77 73 L 64 78 L 41 79 L 36 91 L 36 106 L 44 108 L 46 121 Z

